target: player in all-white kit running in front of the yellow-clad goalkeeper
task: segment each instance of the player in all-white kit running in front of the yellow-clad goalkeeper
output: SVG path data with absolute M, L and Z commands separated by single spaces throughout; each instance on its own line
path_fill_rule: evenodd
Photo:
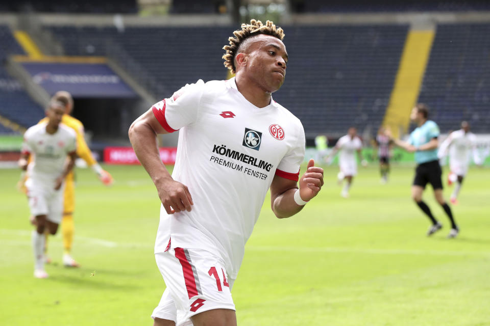
M 51 101 L 46 109 L 46 122 L 27 129 L 24 133 L 19 167 L 28 169 L 27 196 L 31 214 L 35 216 L 36 230 L 32 233 L 34 277 L 46 278 L 44 270 L 44 230 L 56 234 L 63 217 L 63 180 L 73 169 L 76 158 L 75 131 L 61 124 L 65 113 L 63 103 Z M 67 157 L 69 159 L 67 159 Z

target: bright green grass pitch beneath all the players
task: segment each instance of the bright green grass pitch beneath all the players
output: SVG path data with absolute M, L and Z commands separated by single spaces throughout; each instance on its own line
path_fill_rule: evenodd
M 82 267 L 61 266 L 58 234 L 46 280 L 32 275 L 19 171 L 0 170 L 0 324 L 152 324 L 165 288 L 153 255 L 157 193 L 141 167 L 106 168 L 111 188 L 77 171 L 72 253 Z M 424 198 L 444 228 L 425 236 L 428 220 L 409 198 L 412 168 L 394 167 L 386 185 L 376 167 L 360 168 L 349 199 L 336 174 L 326 168 L 321 194 L 290 219 L 276 219 L 266 199 L 232 291 L 239 325 L 490 325 L 488 169 L 464 181 L 456 239 L 446 239 L 432 189 Z

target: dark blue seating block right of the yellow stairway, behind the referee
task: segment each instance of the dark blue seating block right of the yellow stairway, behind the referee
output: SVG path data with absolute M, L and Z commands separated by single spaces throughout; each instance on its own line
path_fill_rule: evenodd
M 441 130 L 468 120 L 475 132 L 490 130 L 490 24 L 437 26 L 419 101 L 432 109 Z

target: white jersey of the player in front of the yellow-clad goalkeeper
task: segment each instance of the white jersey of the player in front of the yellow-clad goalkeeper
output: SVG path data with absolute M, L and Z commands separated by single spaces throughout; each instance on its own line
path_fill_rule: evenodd
M 22 152 L 33 155 L 29 164 L 29 178 L 54 184 L 63 172 L 66 156 L 77 149 L 75 131 L 60 124 L 54 134 L 46 132 L 45 123 L 27 129 Z

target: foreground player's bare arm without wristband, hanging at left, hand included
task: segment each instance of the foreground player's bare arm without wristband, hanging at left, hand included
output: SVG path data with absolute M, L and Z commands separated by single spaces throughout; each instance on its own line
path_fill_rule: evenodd
M 193 202 L 189 189 L 170 176 L 160 159 L 157 134 L 166 133 L 169 132 L 162 127 L 150 108 L 131 124 L 129 139 L 141 165 L 152 178 L 167 214 L 190 211 Z

